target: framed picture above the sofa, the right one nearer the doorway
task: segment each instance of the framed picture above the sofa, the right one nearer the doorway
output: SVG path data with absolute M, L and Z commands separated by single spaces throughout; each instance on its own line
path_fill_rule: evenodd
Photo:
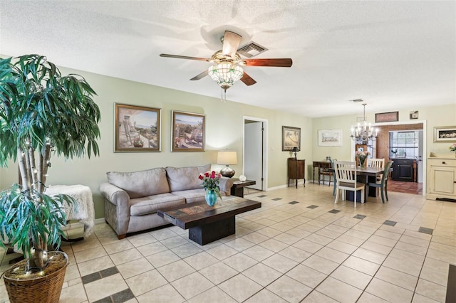
M 172 151 L 204 151 L 206 115 L 177 112 L 172 115 Z

